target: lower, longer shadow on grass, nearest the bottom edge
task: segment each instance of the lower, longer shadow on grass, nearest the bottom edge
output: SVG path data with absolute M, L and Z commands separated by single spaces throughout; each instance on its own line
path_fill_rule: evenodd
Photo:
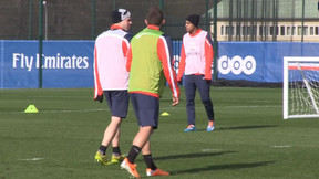
M 216 166 L 207 166 L 203 168 L 192 168 L 187 170 L 172 171 L 171 175 L 182 175 L 182 173 L 196 173 L 203 171 L 213 171 L 213 170 L 236 170 L 236 169 L 245 169 L 245 168 L 255 168 L 263 167 L 275 161 L 261 161 L 261 162 L 251 162 L 251 164 L 230 164 L 230 165 L 216 165 Z

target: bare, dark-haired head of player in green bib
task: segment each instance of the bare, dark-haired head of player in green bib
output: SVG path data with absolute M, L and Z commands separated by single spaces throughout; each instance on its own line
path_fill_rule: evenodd
M 161 27 L 162 24 L 164 24 L 165 19 L 164 19 L 163 11 L 156 6 L 151 7 L 146 14 L 145 23 L 156 25 L 156 27 Z

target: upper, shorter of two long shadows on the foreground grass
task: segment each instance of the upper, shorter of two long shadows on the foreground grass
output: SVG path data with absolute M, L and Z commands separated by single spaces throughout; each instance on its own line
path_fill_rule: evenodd
M 220 156 L 228 152 L 237 151 L 220 151 L 220 152 L 194 152 L 194 154 L 184 154 L 184 155 L 174 155 L 174 156 L 163 156 L 163 157 L 153 157 L 155 160 L 169 160 L 169 159 L 179 159 L 179 158 L 200 158 L 200 157 L 210 157 L 210 156 Z

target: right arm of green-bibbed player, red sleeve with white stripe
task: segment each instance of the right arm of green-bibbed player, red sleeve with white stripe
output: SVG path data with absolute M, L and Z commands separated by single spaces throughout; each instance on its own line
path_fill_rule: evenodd
M 172 66 L 173 60 L 172 41 L 168 36 L 161 36 L 157 42 L 157 55 L 162 62 L 164 75 L 173 93 L 173 105 L 178 104 L 179 87 L 177 85 L 176 74 Z

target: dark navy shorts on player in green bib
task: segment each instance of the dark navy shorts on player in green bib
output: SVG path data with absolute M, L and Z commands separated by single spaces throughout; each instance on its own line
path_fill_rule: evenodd
M 137 118 L 138 126 L 158 126 L 160 99 L 154 96 L 131 93 L 131 102 Z

